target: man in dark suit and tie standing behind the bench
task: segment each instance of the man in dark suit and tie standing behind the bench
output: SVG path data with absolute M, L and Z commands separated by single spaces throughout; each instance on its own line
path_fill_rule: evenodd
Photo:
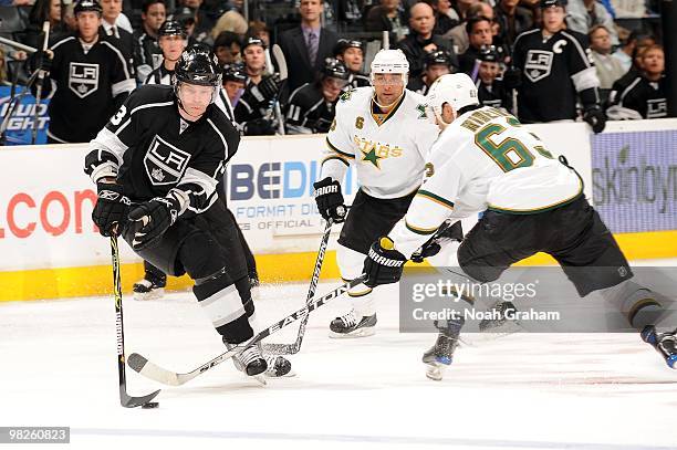
M 290 92 L 314 81 L 338 40 L 333 31 L 321 27 L 323 10 L 321 0 L 301 0 L 301 25 L 280 34 L 279 44 L 287 60 Z

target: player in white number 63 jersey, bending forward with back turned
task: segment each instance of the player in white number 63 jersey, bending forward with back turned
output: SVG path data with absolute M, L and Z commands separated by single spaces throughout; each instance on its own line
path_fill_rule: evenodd
M 483 211 L 458 249 L 459 282 L 492 282 L 511 264 L 539 251 L 549 253 L 581 296 L 600 292 L 677 368 L 670 304 L 631 280 L 625 257 L 585 200 L 583 181 L 566 159 L 553 158 L 510 114 L 480 106 L 465 74 L 437 80 L 427 100 L 429 115 L 442 128 L 430 149 L 434 175 L 418 190 L 405 221 L 369 249 L 365 284 L 397 282 L 404 263 L 442 222 Z M 440 379 L 462 320 L 436 325 L 440 334 L 424 363 L 428 376 Z

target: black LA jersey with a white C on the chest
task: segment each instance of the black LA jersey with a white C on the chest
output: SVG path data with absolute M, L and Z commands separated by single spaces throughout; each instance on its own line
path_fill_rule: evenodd
M 574 119 L 576 93 L 585 107 L 600 103 L 600 80 L 586 52 L 587 38 L 575 31 L 544 36 L 541 30 L 531 30 L 517 38 L 512 63 L 522 71 L 520 121 Z

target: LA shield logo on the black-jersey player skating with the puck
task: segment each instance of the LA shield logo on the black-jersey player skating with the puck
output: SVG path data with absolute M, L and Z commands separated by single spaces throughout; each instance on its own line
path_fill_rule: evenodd
M 176 185 L 184 176 L 189 160 L 189 153 L 155 136 L 144 156 L 144 166 L 154 186 Z

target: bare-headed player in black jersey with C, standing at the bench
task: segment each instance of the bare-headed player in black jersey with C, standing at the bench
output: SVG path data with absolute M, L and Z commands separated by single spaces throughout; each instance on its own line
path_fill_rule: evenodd
M 518 87 L 518 116 L 523 123 L 573 121 L 576 97 L 583 119 L 595 133 L 606 117 L 600 105 L 600 80 L 589 60 L 587 36 L 565 29 L 566 0 L 541 0 L 543 25 L 514 41 L 513 67 L 504 76 Z

